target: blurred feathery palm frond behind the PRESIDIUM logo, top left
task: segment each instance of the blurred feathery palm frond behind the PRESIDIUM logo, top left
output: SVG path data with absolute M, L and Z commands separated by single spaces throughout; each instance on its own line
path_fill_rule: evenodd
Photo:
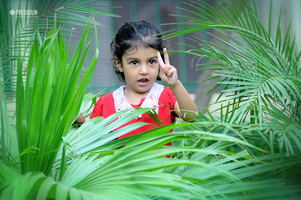
M 0 1 L 0 79 L 5 86 L 5 96 L 8 102 L 15 102 L 14 91 L 16 89 L 19 46 L 21 47 L 23 56 L 23 72 L 26 73 L 29 52 L 32 47 L 30 41 L 37 36 L 38 46 L 41 48 L 45 36 L 50 31 L 50 27 L 58 23 L 57 19 L 60 19 L 62 39 L 65 40 L 72 34 L 72 29 L 68 25 L 85 26 L 89 20 L 89 17 L 85 16 L 87 14 L 120 17 L 119 15 L 101 10 L 106 7 L 116 6 L 97 6 L 93 5 L 91 0 L 20 0 L 18 7 L 14 6 L 12 1 Z M 9 13 L 12 9 L 37 10 L 37 15 L 20 18 L 17 15 Z M 95 22 L 95 24 L 97 26 L 104 26 L 99 22 Z M 37 31 L 33 34 L 35 29 Z

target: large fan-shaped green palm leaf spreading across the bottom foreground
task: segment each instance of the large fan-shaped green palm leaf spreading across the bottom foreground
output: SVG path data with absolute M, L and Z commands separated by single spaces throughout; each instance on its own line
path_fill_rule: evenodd
M 95 159 L 95 156 L 79 156 L 67 166 L 60 182 L 46 177 L 43 173 L 14 174 L 7 166 L 2 166 L 6 187 L 1 197 L 14 198 L 30 194 L 39 199 L 61 197 L 66 199 L 256 199 L 297 193 L 298 186 L 283 186 L 283 180 L 248 180 L 254 175 L 273 172 L 282 168 L 280 154 L 271 164 L 271 156 L 252 157 L 243 150 L 235 154 L 225 150 L 229 146 L 254 147 L 240 139 L 204 131 L 167 131 L 178 124 L 159 127 L 149 134 L 115 150 L 115 154 Z M 207 148 L 169 147 L 162 144 L 175 140 L 203 138 L 220 141 Z M 234 141 L 234 142 L 233 142 Z M 116 140 L 117 143 L 117 140 Z M 164 155 L 180 152 L 195 152 L 191 159 L 163 158 Z M 211 161 L 208 161 L 208 158 Z M 300 163 L 300 159 L 286 158 L 285 166 Z M 266 163 L 268 162 L 268 163 Z M 14 179 L 8 179 L 13 176 Z M 30 180 L 30 181 L 28 181 Z M 38 181 L 39 180 L 39 181 Z M 21 184 L 24 182 L 28 184 Z M 14 191 L 14 188 L 17 188 Z M 39 188 L 39 189 L 35 189 Z M 52 189 L 51 189 L 52 188 Z M 6 195 L 6 196 L 5 196 Z M 142 196 L 142 197 L 141 197 Z

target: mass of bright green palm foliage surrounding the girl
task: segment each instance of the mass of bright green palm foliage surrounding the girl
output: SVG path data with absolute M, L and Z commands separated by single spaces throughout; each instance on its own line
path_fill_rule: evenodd
M 193 123 L 160 126 L 118 140 L 114 139 L 147 123 L 116 130 L 120 124 L 144 112 L 152 115 L 153 108 L 135 109 L 123 116 L 125 110 L 71 126 L 89 100 L 95 103 L 95 97 L 84 92 L 97 49 L 82 81 L 77 82 L 94 34 L 98 46 L 96 23 L 89 35 L 88 21 L 69 63 L 71 38 L 65 49 L 60 26 L 53 26 L 42 45 L 36 31 L 36 37 L 29 40 L 26 73 L 22 71 L 26 55 L 18 48 L 16 124 L 8 118 L 4 87 L 0 86 L 0 199 L 300 197 L 301 184 L 292 180 L 301 174 L 299 53 L 290 43 L 295 50 L 288 55 L 288 44 L 281 45 L 280 36 L 272 40 L 271 30 L 264 33 L 256 10 L 248 4 L 246 10 L 241 7 L 244 17 L 236 4 L 225 4 L 227 9 L 235 8 L 227 11 L 222 7 L 225 13 L 206 3 L 195 5 L 198 7 L 191 4 L 204 15 L 195 13 L 195 22 L 186 23 L 191 28 L 172 31 L 166 37 L 203 28 L 217 28 L 229 37 L 233 43 L 220 39 L 226 46 L 193 38 L 197 42 L 196 47 L 190 46 L 194 51 L 182 53 L 216 59 L 219 71 L 215 77 L 223 79 L 213 90 L 224 86 L 222 93 L 234 91 L 232 103 L 222 105 L 215 112 L 218 116 L 199 112 L 197 118 L 190 115 Z M 254 48 L 234 40 L 225 29 Z M 278 78 L 271 79 L 274 73 L 285 77 L 284 83 L 276 84 Z M 293 86 L 289 88 L 285 81 Z M 164 146 L 168 142 L 174 146 Z

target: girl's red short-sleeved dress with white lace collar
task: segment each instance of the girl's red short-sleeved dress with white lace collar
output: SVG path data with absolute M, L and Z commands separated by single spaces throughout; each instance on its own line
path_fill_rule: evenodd
M 155 85 L 160 86 L 161 91 L 158 91 L 158 90 L 154 91 L 151 89 L 151 91 L 153 92 L 154 95 L 150 94 L 151 93 L 151 91 L 150 91 L 149 94 L 147 95 L 147 97 L 142 98 L 141 102 L 138 105 L 132 105 L 132 104 L 128 103 L 127 106 L 131 105 L 132 106 L 131 108 L 137 108 L 137 107 L 154 107 L 156 105 L 163 105 L 163 106 L 160 106 L 159 108 L 157 108 L 158 110 L 156 112 L 160 118 L 160 121 L 162 121 L 164 125 L 171 124 L 171 123 L 175 122 L 175 119 L 176 119 L 175 112 L 173 111 L 175 102 L 177 101 L 175 98 L 175 95 L 173 94 L 172 90 L 169 87 L 164 87 L 163 85 L 159 85 L 157 83 L 155 83 Z M 122 89 L 120 89 L 120 88 L 122 88 Z M 120 95 L 116 95 L 116 91 L 118 91 L 118 90 L 116 90 L 113 93 L 107 94 L 98 99 L 98 101 L 93 109 L 92 115 L 90 115 L 90 119 L 97 117 L 97 116 L 102 116 L 104 118 L 107 118 L 108 116 L 116 113 L 116 109 L 118 111 L 126 109 L 126 107 L 124 105 L 121 107 L 119 105 L 119 107 L 118 107 L 118 102 L 124 103 L 123 100 L 120 100 L 120 98 L 125 98 L 124 100 L 127 102 L 126 97 L 123 94 L 123 89 L 125 88 L 125 86 L 121 86 L 120 88 L 118 89 Z M 157 102 L 156 102 L 156 98 L 157 98 Z M 148 103 L 145 103 L 145 102 L 148 102 Z M 166 105 L 164 105 L 164 104 L 166 104 Z M 150 106 L 150 105 L 154 105 L 154 106 Z M 129 108 L 129 107 L 127 107 L 127 108 Z M 141 118 L 133 119 L 133 120 L 129 121 L 128 123 L 121 125 L 119 128 L 122 128 L 129 124 L 133 124 L 135 122 L 147 122 L 147 123 L 151 123 L 151 124 L 155 124 L 156 126 L 159 126 L 159 124 L 151 116 L 144 113 Z M 119 129 L 119 128 L 117 128 L 117 129 Z M 153 128 L 155 128 L 155 127 L 151 126 L 151 125 L 145 125 L 136 130 L 133 130 L 129 133 L 126 133 L 122 136 L 119 136 L 117 139 L 124 138 L 126 136 L 132 136 L 132 135 L 135 135 L 138 133 L 142 133 L 144 131 L 151 130 Z M 167 145 L 171 145 L 171 143 L 169 143 Z

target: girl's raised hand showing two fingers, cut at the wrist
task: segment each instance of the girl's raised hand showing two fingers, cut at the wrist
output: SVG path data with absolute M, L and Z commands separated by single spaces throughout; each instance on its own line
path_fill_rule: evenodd
M 158 61 L 160 64 L 160 78 L 168 86 L 175 86 L 178 84 L 178 73 L 174 66 L 169 64 L 169 58 L 167 54 L 167 49 L 163 49 L 164 52 L 164 61 L 159 52 L 157 52 Z

